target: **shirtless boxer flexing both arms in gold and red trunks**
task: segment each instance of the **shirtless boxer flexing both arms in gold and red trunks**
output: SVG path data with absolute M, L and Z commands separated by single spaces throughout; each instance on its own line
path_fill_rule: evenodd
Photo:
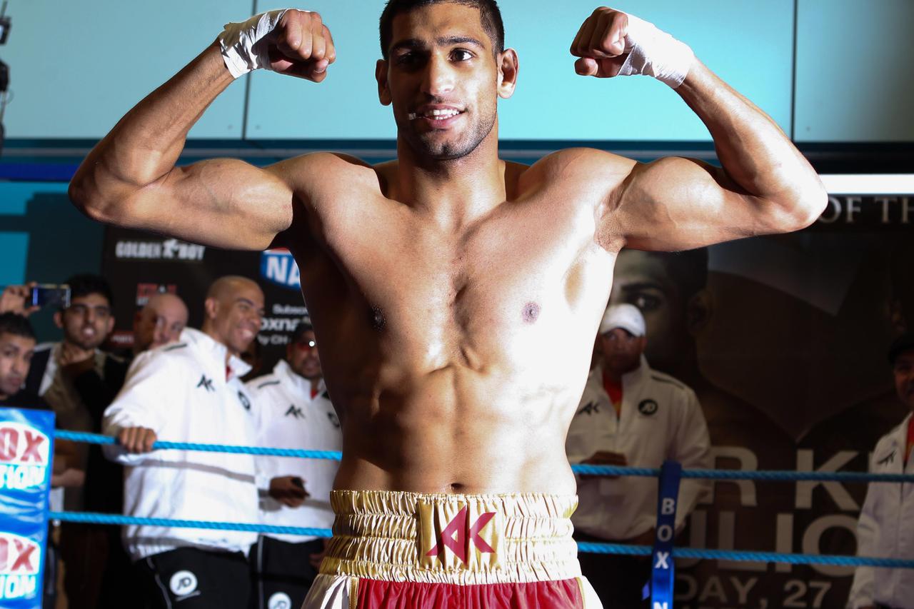
M 617 253 L 799 230 L 825 205 L 769 117 L 685 45 L 609 8 L 574 38 L 574 69 L 658 75 L 707 124 L 723 167 L 590 149 L 500 160 L 497 99 L 518 64 L 499 26 L 485 0 L 388 5 L 376 78 L 395 161 L 175 167 L 233 75 L 320 82 L 335 59 L 315 13 L 230 24 L 70 185 L 93 219 L 295 256 L 344 433 L 335 539 L 309 607 L 595 606 L 570 537 L 564 443 Z M 594 120 L 611 120 L 603 103 Z

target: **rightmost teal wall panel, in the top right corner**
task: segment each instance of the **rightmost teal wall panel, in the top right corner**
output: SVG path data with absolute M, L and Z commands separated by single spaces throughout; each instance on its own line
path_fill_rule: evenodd
M 797 2 L 796 141 L 914 140 L 914 2 Z

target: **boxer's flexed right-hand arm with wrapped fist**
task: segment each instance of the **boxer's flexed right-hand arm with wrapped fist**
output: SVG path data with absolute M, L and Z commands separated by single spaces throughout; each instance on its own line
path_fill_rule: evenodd
M 580 58 L 577 71 L 605 78 L 645 73 L 674 86 L 707 125 L 721 167 L 677 157 L 629 162 L 628 175 L 604 201 L 601 241 L 643 250 L 685 250 L 800 230 L 818 218 L 827 200 L 824 187 L 778 125 L 692 59 L 685 45 L 640 20 L 632 19 L 631 26 L 636 34 L 647 33 L 640 48 L 626 37 L 631 33 L 628 16 L 598 9 L 572 45 Z M 644 56 L 654 51 L 661 57 L 652 64 Z M 638 53 L 641 57 L 635 58 Z M 681 68 L 667 73 L 665 68 L 676 68 L 684 54 L 687 75 Z M 630 55 L 634 61 L 628 61 Z

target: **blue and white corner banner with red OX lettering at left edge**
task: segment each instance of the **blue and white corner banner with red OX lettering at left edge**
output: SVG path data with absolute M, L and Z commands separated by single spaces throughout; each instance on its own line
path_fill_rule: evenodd
M 0 408 L 0 607 L 40 609 L 54 414 Z

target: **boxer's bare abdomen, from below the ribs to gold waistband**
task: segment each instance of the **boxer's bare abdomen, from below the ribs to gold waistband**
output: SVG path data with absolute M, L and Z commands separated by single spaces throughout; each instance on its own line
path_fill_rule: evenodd
M 574 494 L 566 392 L 446 367 L 350 400 L 335 487 Z

